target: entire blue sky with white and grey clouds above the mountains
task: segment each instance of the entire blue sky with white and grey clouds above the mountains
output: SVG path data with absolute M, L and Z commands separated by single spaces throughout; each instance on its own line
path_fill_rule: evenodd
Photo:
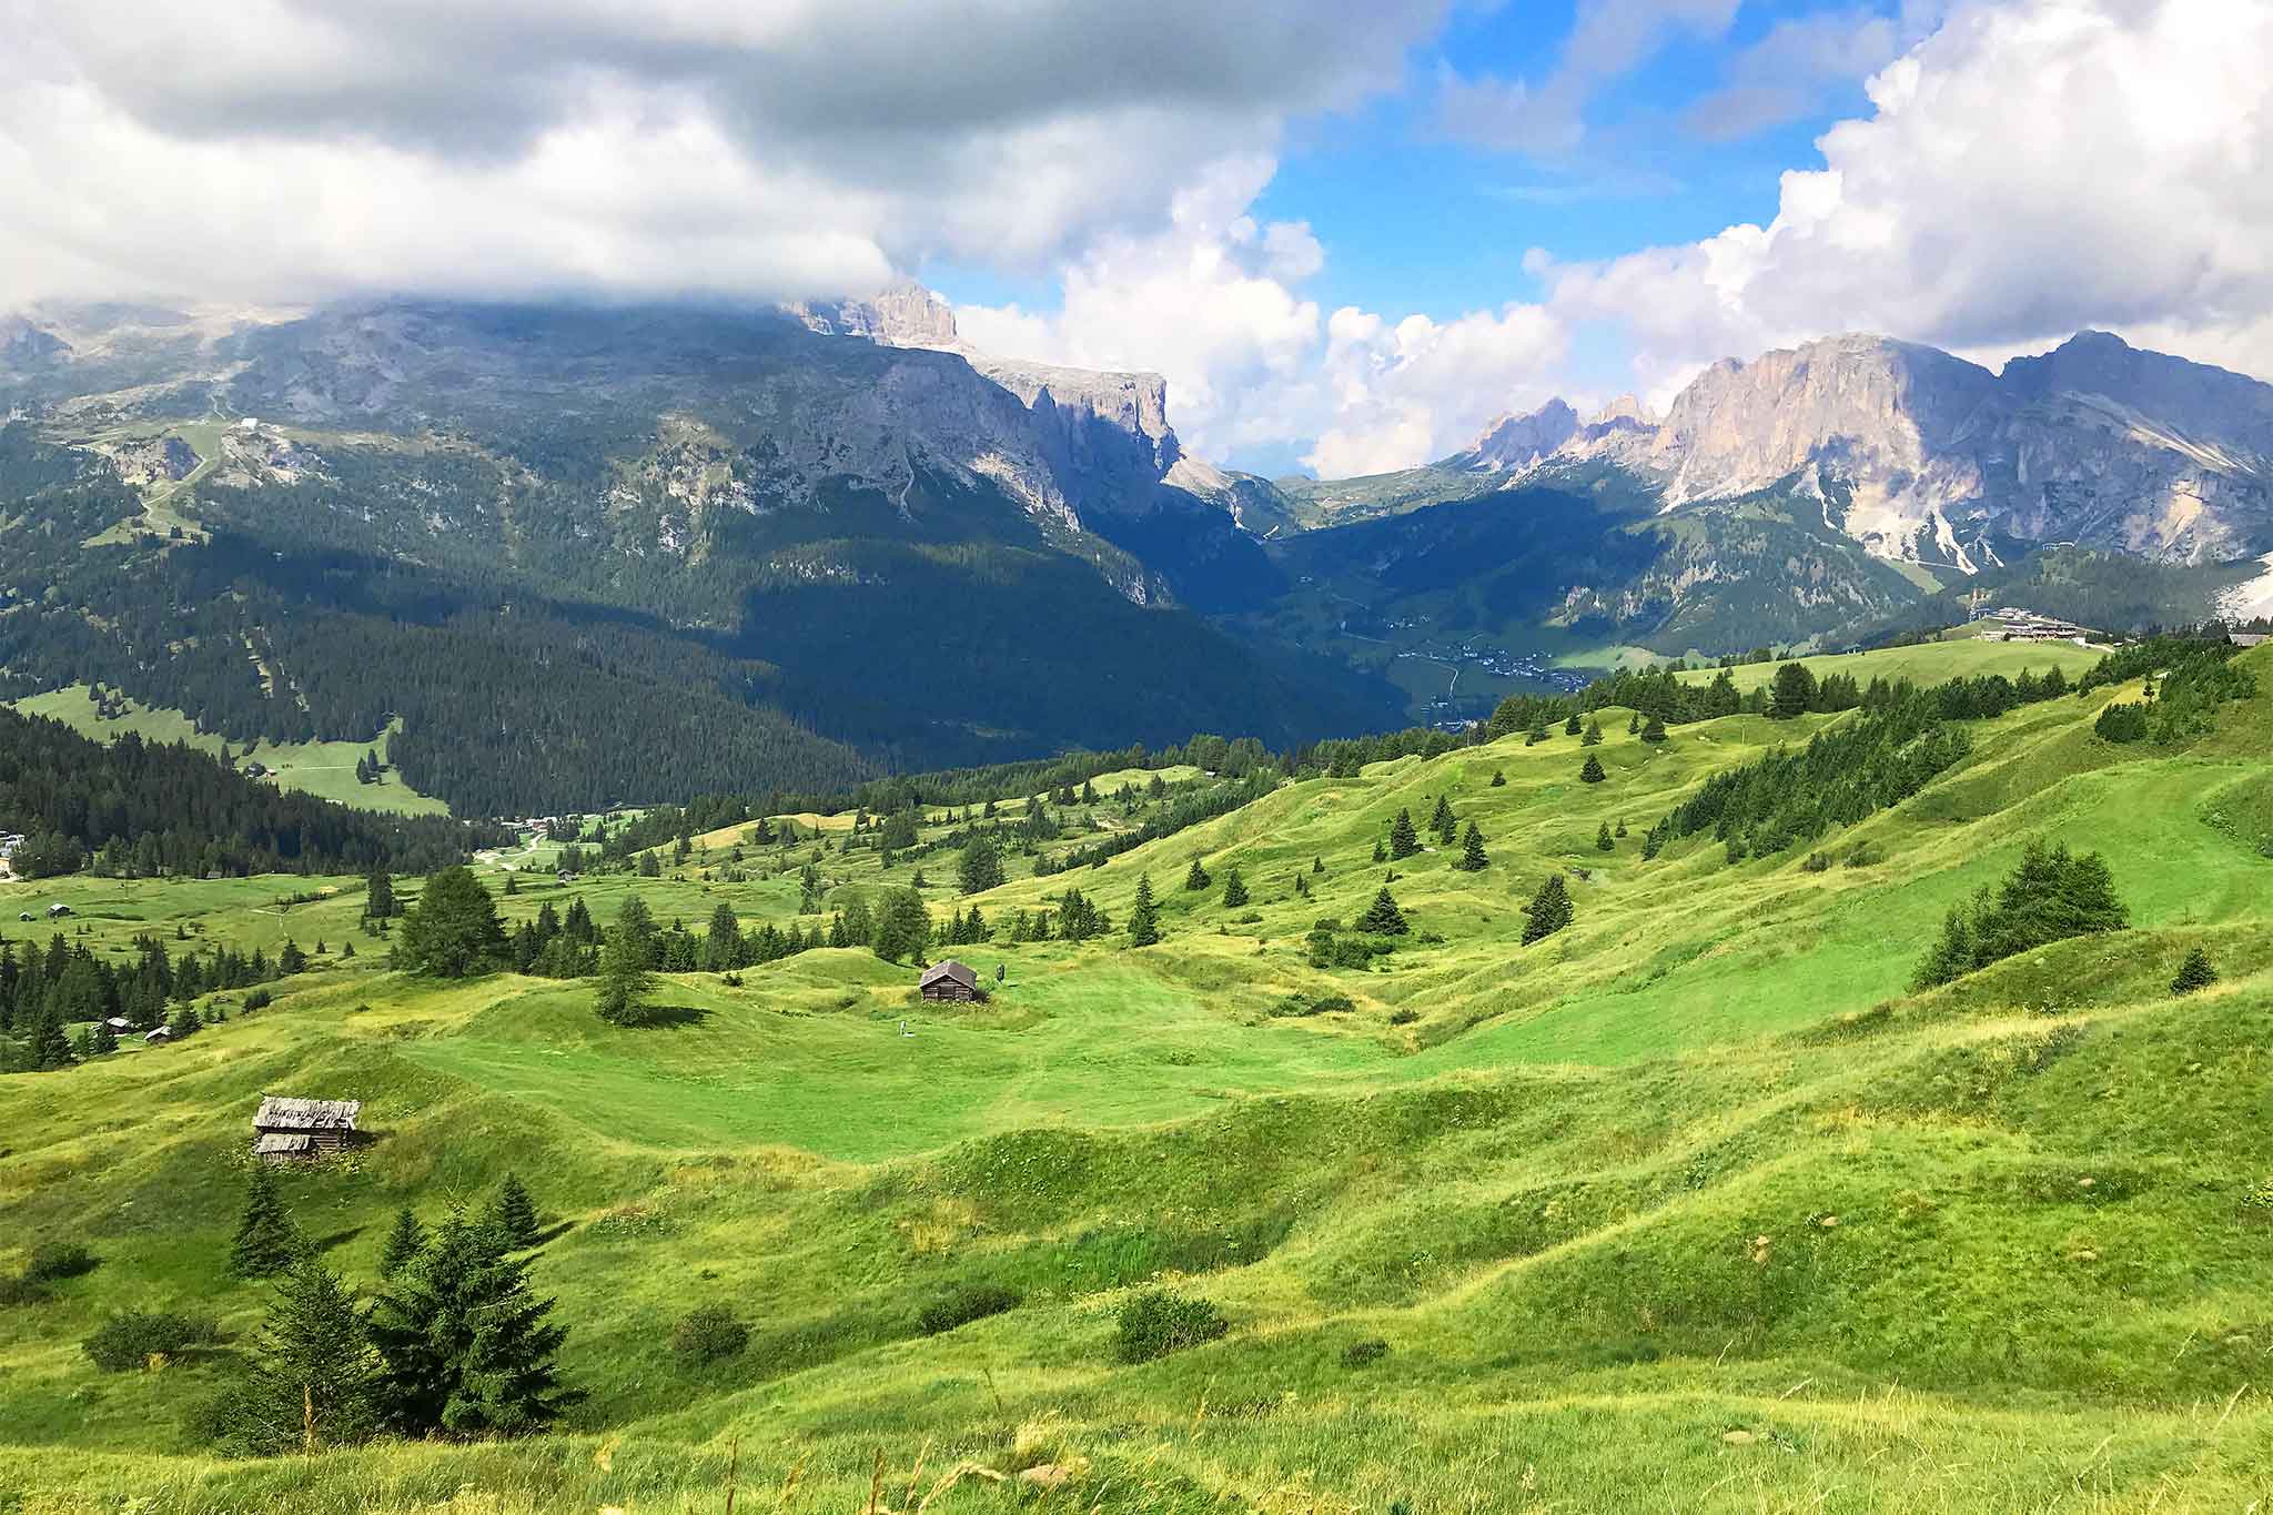
M 1405 468 L 1843 329 L 2273 377 L 2273 0 L 0 0 L 0 311 L 921 279 Z

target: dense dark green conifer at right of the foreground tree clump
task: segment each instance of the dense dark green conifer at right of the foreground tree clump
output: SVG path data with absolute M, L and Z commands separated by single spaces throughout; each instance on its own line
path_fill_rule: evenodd
M 525 1436 L 582 1399 L 559 1381 L 552 1358 L 566 1331 L 546 1324 L 552 1301 L 530 1292 L 527 1270 L 491 1227 L 452 1213 L 377 1297 L 370 1340 L 398 1431 Z

